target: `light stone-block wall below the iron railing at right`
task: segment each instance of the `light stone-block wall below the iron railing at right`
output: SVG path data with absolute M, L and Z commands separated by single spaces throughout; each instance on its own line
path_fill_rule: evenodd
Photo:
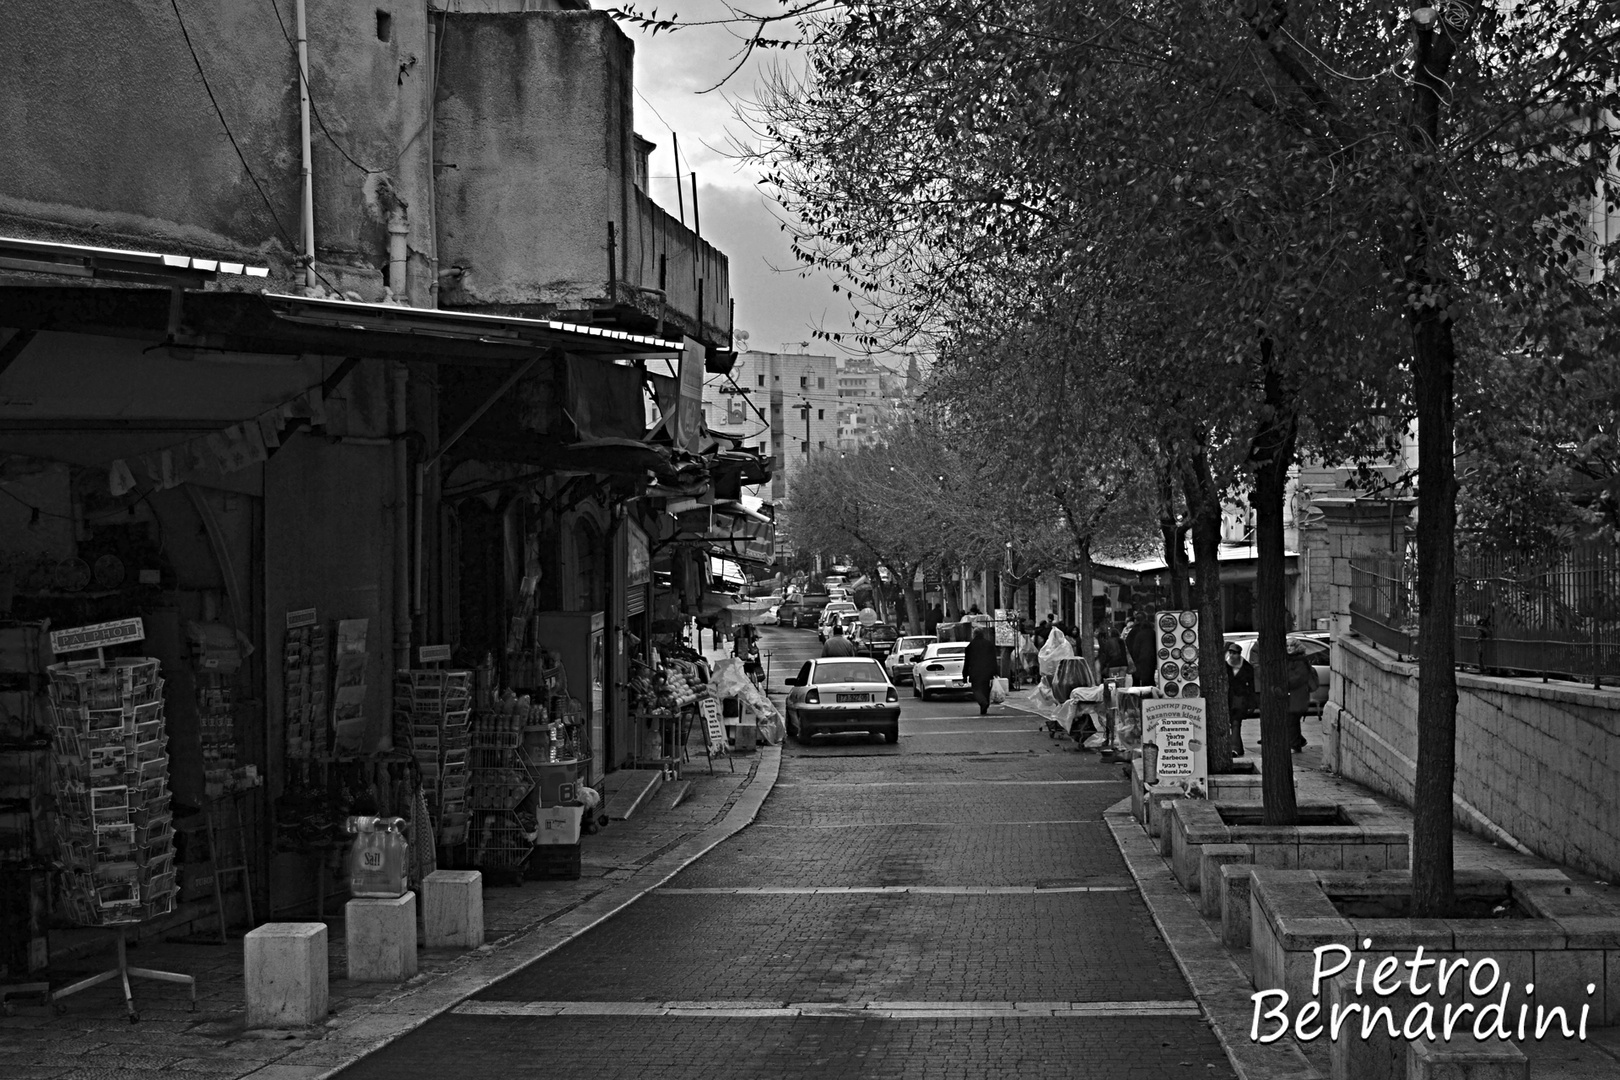
M 1458 824 L 1601 878 L 1620 874 L 1620 690 L 1466 672 L 1456 690 Z M 1324 724 L 1336 727 L 1346 779 L 1411 803 L 1416 664 L 1338 638 Z

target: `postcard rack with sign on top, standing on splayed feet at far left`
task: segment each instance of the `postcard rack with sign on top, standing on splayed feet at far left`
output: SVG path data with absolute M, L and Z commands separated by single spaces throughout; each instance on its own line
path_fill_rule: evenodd
M 152 657 L 107 661 L 102 648 L 141 641 L 139 619 L 123 619 L 50 635 L 57 654 L 96 651 L 96 659 L 52 664 L 50 716 L 55 724 L 53 784 L 62 853 L 62 907 L 79 926 L 118 931 L 118 965 L 50 996 L 52 1004 L 112 980 L 123 984 L 130 1023 L 130 978 L 180 983 L 198 1007 L 196 980 L 175 972 L 130 967 L 131 926 L 175 908 L 175 829 L 168 806 L 168 735 L 164 680 Z

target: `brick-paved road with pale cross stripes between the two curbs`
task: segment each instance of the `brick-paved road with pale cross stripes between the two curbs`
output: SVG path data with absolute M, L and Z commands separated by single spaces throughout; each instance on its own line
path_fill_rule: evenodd
M 818 653 L 768 630 L 779 685 Z M 1102 821 L 1116 766 L 902 693 L 901 742 L 787 745 L 758 819 L 347 1070 L 405 1077 L 1231 1077 Z

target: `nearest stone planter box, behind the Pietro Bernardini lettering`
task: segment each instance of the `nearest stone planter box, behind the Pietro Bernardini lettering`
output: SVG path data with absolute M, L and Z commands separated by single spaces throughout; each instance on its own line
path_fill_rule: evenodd
M 1411 873 L 1256 866 L 1249 873 L 1254 986 L 1286 991 L 1288 1010 L 1294 1014 L 1311 999 L 1317 947 L 1336 944 L 1353 949 L 1348 972 L 1353 975 L 1356 962 L 1366 960 L 1371 980 L 1375 965 L 1385 957 L 1405 963 L 1422 946 L 1424 960 L 1466 959 L 1469 965 L 1463 968 L 1464 980 L 1474 963 L 1487 957 L 1500 970 L 1500 983 L 1486 997 L 1466 994 L 1464 983 L 1453 978 L 1443 999 L 1435 991 L 1427 994 L 1432 1002 L 1471 1002 L 1477 1010 L 1489 1001 L 1498 1001 L 1502 986 L 1511 983 L 1507 1007 L 1510 1027 L 1516 1027 L 1521 1004 L 1529 1006 L 1531 1025 L 1537 1007 L 1560 1007 L 1570 1027 L 1576 1027 L 1583 1006 L 1589 1007 L 1588 1028 L 1620 1025 L 1620 908 L 1568 881 L 1557 870 L 1460 870 L 1456 891 L 1464 900 L 1505 899 L 1523 918 L 1346 916 L 1335 907 L 1335 899 L 1405 899 L 1411 892 Z M 1369 938 L 1371 949 L 1362 949 Z M 1408 972 L 1401 967 L 1395 978 L 1405 980 Z M 1426 968 L 1429 981 L 1434 981 L 1434 967 Z M 1536 988 L 1529 996 L 1523 993 L 1528 983 Z M 1586 986 L 1594 986 L 1594 993 L 1588 994 Z M 1324 1009 L 1328 1006 L 1327 997 L 1324 989 Z M 1361 1001 L 1388 1004 L 1400 1025 L 1416 999 L 1409 993 L 1375 999 L 1369 989 Z M 1473 1017 L 1464 1023 L 1471 1031 Z M 1554 1033 L 1557 1031 L 1555 1025 Z

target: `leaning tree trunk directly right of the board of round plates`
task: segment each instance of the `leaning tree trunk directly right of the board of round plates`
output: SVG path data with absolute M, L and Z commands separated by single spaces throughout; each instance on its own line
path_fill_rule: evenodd
M 1204 437 L 1181 458 L 1181 489 L 1192 520 L 1192 604 L 1199 610 L 1199 685 L 1204 688 L 1207 738 L 1204 755 L 1210 776 L 1231 772 L 1231 751 L 1238 748 L 1236 721 L 1226 708 L 1226 641 L 1220 596 L 1220 491 L 1210 474 Z

